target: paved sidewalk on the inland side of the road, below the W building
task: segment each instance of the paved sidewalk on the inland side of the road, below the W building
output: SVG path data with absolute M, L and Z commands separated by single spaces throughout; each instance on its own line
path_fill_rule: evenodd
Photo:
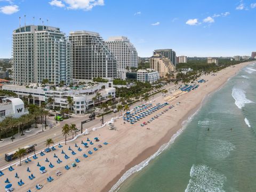
M 53 120 L 47 119 L 46 121 L 47 121 L 47 125 L 50 125 L 50 124 L 54 125 L 54 121 Z M 48 131 L 48 130 L 54 129 L 55 127 L 57 127 L 59 125 L 60 124 L 57 124 L 56 126 L 53 126 L 52 128 L 50 128 L 49 126 L 46 126 L 46 129 L 44 127 L 44 131 Z M 11 137 L 2 139 L 3 141 L 0 142 L 0 147 L 9 145 L 11 143 L 14 143 L 14 142 L 23 140 L 25 138 L 29 138 L 29 137 L 31 137 L 33 135 L 38 134 L 38 133 L 41 133 L 42 132 L 42 126 L 44 126 L 44 124 L 43 125 L 42 124 L 37 124 L 38 128 L 35 128 L 35 124 L 33 124 L 32 127 L 29 128 L 29 132 L 27 132 L 27 129 L 23 130 L 23 134 L 25 134 L 25 135 L 22 135 L 22 136 L 21 136 L 22 132 L 21 132 L 21 129 L 20 129 L 20 134 L 17 133 L 15 135 L 13 135 L 13 137 L 15 138 L 15 139 L 13 139 L 13 141 L 12 141 Z

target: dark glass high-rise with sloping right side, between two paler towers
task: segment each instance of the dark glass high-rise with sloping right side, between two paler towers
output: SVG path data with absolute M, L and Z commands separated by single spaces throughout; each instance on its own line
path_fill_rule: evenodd
M 116 59 L 98 33 L 74 31 L 69 34 L 74 81 L 102 77 L 116 78 Z

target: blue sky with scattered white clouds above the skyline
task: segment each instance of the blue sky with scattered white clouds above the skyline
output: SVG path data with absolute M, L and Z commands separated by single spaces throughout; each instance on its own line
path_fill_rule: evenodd
M 44 21 L 67 36 L 76 30 L 126 36 L 140 57 L 155 49 L 189 57 L 256 51 L 256 0 L 0 0 L 0 58 L 11 58 L 12 31 L 19 17 L 25 25 L 24 15 L 26 25 Z

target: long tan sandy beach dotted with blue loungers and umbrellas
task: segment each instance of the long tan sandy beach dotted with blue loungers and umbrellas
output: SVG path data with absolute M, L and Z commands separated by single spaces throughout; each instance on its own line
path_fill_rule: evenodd
M 170 105 L 146 116 L 135 124 L 124 124 L 123 119 L 119 118 L 114 122 L 116 130 L 109 130 L 108 126 L 105 126 L 90 132 L 89 135 L 79 137 L 76 141 L 68 142 L 66 146 L 62 144 L 62 148 L 55 147 L 56 150 L 45 153 L 44 156 L 37 155 L 38 158 L 31 158 L 32 161 L 28 164 L 22 162 L 21 166 L 13 166 L 14 171 L 4 170 L 4 175 L 0 177 L 0 183 L 3 186 L 1 190 L 4 191 L 5 180 L 8 178 L 14 191 L 27 191 L 29 189 L 35 191 L 35 186 L 38 183 L 43 185 L 41 191 L 109 191 L 127 170 L 156 153 L 164 143 L 169 142 L 172 136 L 181 129 L 182 122 L 195 113 L 207 95 L 218 90 L 230 77 L 236 75 L 241 68 L 249 63 L 225 68 L 216 73 L 215 76 L 202 76 L 206 80 L 205 83 L 199 84 L 200 86 L 196 90 L 169 102 L 174 107 L 150 124 L 143 127 L 140 125 L 168 109 Z M 169 95 L 172 94 L 167 94 L 167 96 Z M 152 102 L 153 106 L 156 106 L 158 102 L 162 104 L 166 101 L 159 97 Z M 178 102 L 180 102 L 179 105 L 177 105 Z M 81 141 L 86 142 L 87 137 L 94 143 L 93 145 L 89 144 L 89 148 L 85 148 L 81 144 Z M 100 141 L 95 142 L 95 137 L 98 137 Z M 109 144 L 103 145 L 103 142 Z M 75 144 L 82 151 L 78 151 Z M 102 148 L 98 147 L 99 144 L 102 145 Z M 68 150 L 69 146 L 76 155 L 71 154 L 71 151 Z M 98 150 L 94 151 L 94 147 L 97 147 Z M 65 159 L 61 150 L 65 151 L 70 158 Z M 93 152 L 92 155 L 88 154 L 89 150 Z M 58 158 L 53 157 L 54 153 L 62 163 L 56 162 Z M 85 158 L 83 154 L 88 155 L 88 157 Z M 46 158 L 54 165 L 52 169 L 49 167 L 50 163 L 45 162 Z M 81 162 L 77 163 L 76 167 L 71 167 L 71 163 L 75 162 L 76 158 Z M 38 162 L 41 166 L 46 167 L 46 173 L 41 174 L 39 172 Z M 65 170 L 65 165 L 69 165 L 70 169 Z M 27 167 L 29 167 L 30 172 L 27 172 Z M 62 175 L 55 175 L 58 170 L 62 172 Z M 15 173 L 18 173 L 19 179 L 14 177 Z M 35 176 L 33 180 L 28 178 L 31 173 Z M 54 179 L 52 182 L 46 180 L 49 176 Z M 17 182 L 20 179 L 25 182 L 25 185 L 18 186 Z

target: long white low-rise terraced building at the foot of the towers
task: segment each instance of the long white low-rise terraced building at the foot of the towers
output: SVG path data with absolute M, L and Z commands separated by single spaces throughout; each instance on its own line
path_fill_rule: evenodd
M 76 87 L 56 87 L 52 89 L 50 86 L 18 86 L 18 85 L 3 85 L 3 90 L 12 91 L 18 95 L 19 98 L 30 98 L 35 105 L 41 106 L 42 103 L 47 103 L 49 98 L 53 99 L 52 103 L 47 103 L 46 108 L 69 108 L 75 114 L 82 114 L 95 104 L 108 101 L 109 95 L 111 99 L 115 98 L 115 88 L 113 82 L 108 83 L 87 83 L 86 85 L 79 85 Z M 94 100 L 96 93 L 100 93 L 99 101 Z M 68 105 L 67 98 L 73 99 L 73 104 Z M 94 103 L 95 102 L 95 103 Z

